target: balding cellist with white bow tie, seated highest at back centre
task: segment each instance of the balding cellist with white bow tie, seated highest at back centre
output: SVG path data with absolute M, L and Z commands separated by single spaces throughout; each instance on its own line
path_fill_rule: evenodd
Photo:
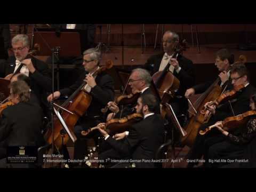
M 163 35 L 164 53 L 150 57 L 145 64 L 145 68 L 153 75 L 157 71 L 162 71 L 167 63 L 170 62 L 171 66 L 169 70 L 180 81 L 180 87 L 176 93 L 177 97 L 171 101 L 171 105 L 175 113 L 181 115 L 187 114 L 188 102 L 183 95 L 189 87 L 194 85 L 195 75 L 193 62 L 191 60 L 181 54 L 173 55 L 178 43 L 179 35 L 169 30 L 166 31 Z

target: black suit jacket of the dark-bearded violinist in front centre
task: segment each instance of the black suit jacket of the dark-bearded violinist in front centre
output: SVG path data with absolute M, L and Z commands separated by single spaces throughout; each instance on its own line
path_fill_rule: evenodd
M 119 142 L 109 137 L 109 143 L 122 156 L 132 156 L 133 160 L 138 160 L 136 167 L 154 167 L 155 163 L 151 159 L 156 158 L 156 151 L 162 145 L 164 139 L 164 122 L 160 115 L 154 114 L 141 122 L 133 125 L 129 135 L 124 142 Z M 150 160 L 145 162 L 145 160 Z

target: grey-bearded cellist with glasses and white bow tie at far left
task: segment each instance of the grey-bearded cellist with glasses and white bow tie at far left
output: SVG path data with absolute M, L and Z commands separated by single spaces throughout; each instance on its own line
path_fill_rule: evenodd
M 12 49 L 14 56 L 11 56 L 4 65 L 2 73 L 6 75 L 19 72 L 30 78 L 30 88 L 33 90 L 41 102 L 44 114 L 48 113 L 48 103 L 46 101 L 47 92 L 51 92 L 52 80 L 50 71 L 45 62 L 34 57 L 28 59 L 29 37 L 19 34 L 12 38 Z M 22 66 L 22 67 L 21 67 Z

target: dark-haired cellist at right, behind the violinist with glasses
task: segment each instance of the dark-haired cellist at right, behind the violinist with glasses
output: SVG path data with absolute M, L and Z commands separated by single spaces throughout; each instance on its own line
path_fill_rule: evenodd
M 234 63 L 234 55 L 229 52 L 227 49 L 221 49 L 216 53 L 215 58 L 215 66 L 220 71 L 219 77 L 220 82 L 219 85 L 223 88 L 228 84 L 228 88 L 231 86 L 231 82 L 228 81 L 230 79 L 230 67 Z M 199 85 L 195 85 L 188 89 L 185 93 L 185 97 L 189 98 L 191 95 L 199 94 L 205 92 L 208 87 L 211 86 L 213 82 L 209 81 L 206 83 L 202 83 Z

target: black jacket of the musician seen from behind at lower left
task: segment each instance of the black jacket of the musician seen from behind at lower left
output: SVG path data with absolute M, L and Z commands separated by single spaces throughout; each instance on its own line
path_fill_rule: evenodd
M 42 146 L 44 145 L 42 130 L 42 109 L 29 102 L 3 110 L 0 120 L 0 142 L 7 146 Z M 4 154 L 1 154 L 3 157 Z

